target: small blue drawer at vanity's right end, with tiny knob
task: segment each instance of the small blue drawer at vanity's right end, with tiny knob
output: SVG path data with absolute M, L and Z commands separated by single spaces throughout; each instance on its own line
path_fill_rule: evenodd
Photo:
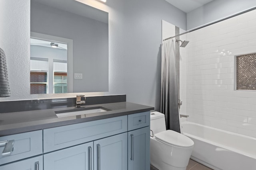
M 128 131 L 150 125 L 150 111 L 128 115 Z

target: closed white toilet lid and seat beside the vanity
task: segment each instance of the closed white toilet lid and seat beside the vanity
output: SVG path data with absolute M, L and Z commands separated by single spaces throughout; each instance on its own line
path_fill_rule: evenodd
M 194 145 L 192 139 L 172 130 L 162 131 L 156 133 L 154 136 L 156 137 L 156 140 L 171 146 L 187 148 Z

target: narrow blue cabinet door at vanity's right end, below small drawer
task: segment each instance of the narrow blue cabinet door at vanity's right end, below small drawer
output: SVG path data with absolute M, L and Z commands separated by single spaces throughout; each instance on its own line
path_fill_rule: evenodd
M 128 132 L 128 170 L 150 170 L 150 127 Z

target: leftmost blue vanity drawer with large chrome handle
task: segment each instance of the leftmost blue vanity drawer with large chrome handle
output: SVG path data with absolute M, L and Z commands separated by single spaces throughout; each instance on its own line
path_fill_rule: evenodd
M 4 147 L 0 147 L 0 165 L 42 154 L 43 152 L 42 130 L 0 137 L 0 141 L 11 140 L 14 140 L 14 145 L 10 155 L 2 156 Z

